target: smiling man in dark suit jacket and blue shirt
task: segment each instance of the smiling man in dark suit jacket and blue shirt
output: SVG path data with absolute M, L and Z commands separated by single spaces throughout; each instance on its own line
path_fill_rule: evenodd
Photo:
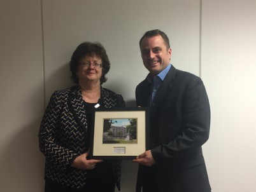
M 169 39 L 159 30 L 139 41 L 149 74 L 136 87 L 137 106 L 150 106 L 150 150 L 140 154 L 136 191 L 211 191 L 202 145 L 210 132 L 203 81 L 170 64 Z

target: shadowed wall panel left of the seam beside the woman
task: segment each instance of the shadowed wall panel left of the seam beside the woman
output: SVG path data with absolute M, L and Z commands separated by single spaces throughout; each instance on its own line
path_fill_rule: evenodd
M 40 1 L 0 1 L 0 191 L 40 191 L 44 110 Z

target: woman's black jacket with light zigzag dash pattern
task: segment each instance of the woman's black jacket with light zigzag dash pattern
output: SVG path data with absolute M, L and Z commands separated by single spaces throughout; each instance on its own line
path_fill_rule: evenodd
M 101 87 L 101 107 L 124 107 L 122 95 Z M 45 155 L 45 179 L 71 188 L 85 186 L 87 170 L 71 167 L 76 156 L 88 148 L 88 127 L 85 102 L 80 86 L 52 94 L 39 129 L 39 147 Z M 120 191 L 120 161 L 113 161 L 115 181 Z

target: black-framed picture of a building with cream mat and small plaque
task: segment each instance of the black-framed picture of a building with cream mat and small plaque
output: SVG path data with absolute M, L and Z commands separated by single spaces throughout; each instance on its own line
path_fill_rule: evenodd
M 148 149 L 148 107 L 96 109 L 90 130 L 90 159 L 135 159 Z

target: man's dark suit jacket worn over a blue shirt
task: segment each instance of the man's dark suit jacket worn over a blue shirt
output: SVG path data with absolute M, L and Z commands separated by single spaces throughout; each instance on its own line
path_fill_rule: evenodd
M 151 93 L 147 79 L 139 83 L 137 106 L 150 106 Z M 203 81 L 172 65 L 150 106 L 150 149 L 156 164 L 139 165 L 137 191 L 141 184 L 152 186 L 152 191 L 156 186 L 159 192 L 211 191 L 201 147 L 209 132 Z

